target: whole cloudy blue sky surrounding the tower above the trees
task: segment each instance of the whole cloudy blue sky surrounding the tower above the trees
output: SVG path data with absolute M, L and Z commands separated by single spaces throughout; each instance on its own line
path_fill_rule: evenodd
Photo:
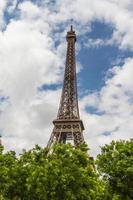
M 0 0 L 0 134 L 5 150 L 46 146 L 66 32 L 76 31 L 80 117 L 90 154 L 133 137 L 133 1 Z

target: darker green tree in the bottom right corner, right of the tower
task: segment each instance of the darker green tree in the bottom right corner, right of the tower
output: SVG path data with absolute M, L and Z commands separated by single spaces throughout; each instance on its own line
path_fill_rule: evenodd
M 133 140 L 112 141 L 97 156 L 100 175 L 106 181 L 111 199 L 133 199 Z

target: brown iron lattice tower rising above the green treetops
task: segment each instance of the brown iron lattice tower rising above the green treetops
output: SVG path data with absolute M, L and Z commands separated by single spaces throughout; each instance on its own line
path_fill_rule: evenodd
M 48 148 L 55 142 L 73 143 L 79 146 L 84 142 L 84 125 L 79 116 L 75 42 L 76 34 L 71 26 L 67 32 L 67 55 L 64 74 L 64 83 L 57 119 L 53 121 L 54 129 L 48 142 Z

